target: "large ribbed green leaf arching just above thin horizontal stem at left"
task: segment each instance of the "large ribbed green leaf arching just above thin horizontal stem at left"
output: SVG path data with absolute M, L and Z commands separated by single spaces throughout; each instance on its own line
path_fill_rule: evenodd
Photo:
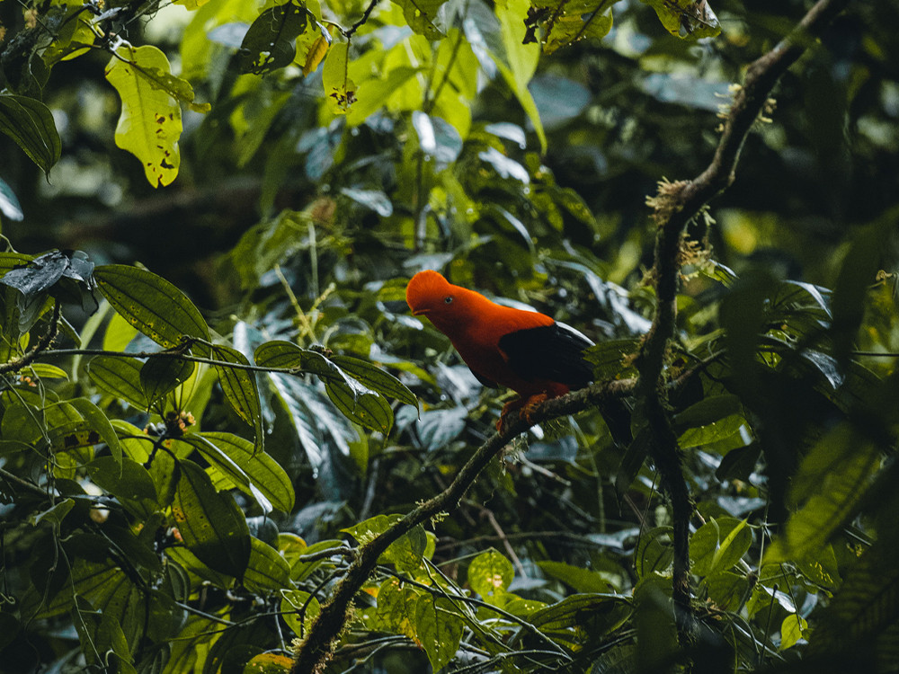
M 130 324 L 166 349 L 182 337 L 209 341 L 209 326 L 196 306 L 172 283 L 151 271 L 124 264 L 93 270 L 97 286 Z

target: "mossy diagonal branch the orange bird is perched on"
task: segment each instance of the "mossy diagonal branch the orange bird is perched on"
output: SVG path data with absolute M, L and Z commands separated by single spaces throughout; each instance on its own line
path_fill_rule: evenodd
M 634 379 L 598 383 L 560 398 L 547 400 L 530 414 L 530 421 L 526 421 L 519 414 L 510 415 L 503 428 L 503 433 L 494 433 L 486 439 L 485 443 L 477 448 L 474 455 L 468 459 L 466 465 L 462 466 L 449 487 L 432 499 L 423 502 L 377 538 L 359 546 L 356 557 L 343 579 L 337 583 L 331 597 L 322 606 L 316 622 L 310 626 L 306 638 L 300 643 L 297 659 L 294 661 L 291 672 L 293 674 L 310 674 L 324 669 L 325 663 L 331 657 L 337 637 L 346 624 L 347 611 L 352 598 L 368 580 L 371 572 L 375 570 L 380 554 L 387 550 L 388 545 L 410 529 L 432 519 L 444 510 L 455 508 L 485 466 L 513 438 L 528 430 L 535 423 L 549 421 L 574 412 L 582 412 L 605 401 L 632 395 L 635 386 L 636 380 Z

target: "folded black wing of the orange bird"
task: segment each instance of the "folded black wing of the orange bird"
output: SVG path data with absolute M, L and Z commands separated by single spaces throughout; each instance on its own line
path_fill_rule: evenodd
M 499 347 L 509 357 L 509 367 L 526 380 L 548 379 L 572 388 L 593 380 L 583 350 L 592 341 L 565 324 L 542 325 L 503 335 Z

